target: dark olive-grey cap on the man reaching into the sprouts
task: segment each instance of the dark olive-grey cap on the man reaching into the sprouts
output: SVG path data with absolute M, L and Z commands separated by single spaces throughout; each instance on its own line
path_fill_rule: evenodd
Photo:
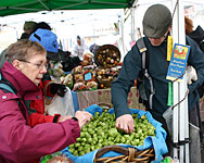
M 171 25 L 171 13 L 163 4 L 151 5 L 143 17 L 143 34 L 146 37 L 161 38 Z

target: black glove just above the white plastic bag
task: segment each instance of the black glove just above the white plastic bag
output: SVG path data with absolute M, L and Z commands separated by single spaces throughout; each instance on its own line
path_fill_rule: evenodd
M 52 95 L 58 93 L 60 97 L 64 97 L 65 92 L 67 91 L 66 86 L 62 84 L 51 84 L 50 85 L 50 92 Z

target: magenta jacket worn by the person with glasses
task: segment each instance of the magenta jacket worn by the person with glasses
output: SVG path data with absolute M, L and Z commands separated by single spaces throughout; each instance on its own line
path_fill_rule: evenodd
M 31 128 L 22 99 L 41 98 L 39 88 L 9 62 L 4 63 L 1 73 L 17 90 L 14 95 L 0 89 L 0 158 L 3 162 L 29 162 L 76 142 L 80 128 L 74 120 L 43 123 Z

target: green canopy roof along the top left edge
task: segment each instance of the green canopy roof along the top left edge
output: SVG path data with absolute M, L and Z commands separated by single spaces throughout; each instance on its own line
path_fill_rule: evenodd
M 131 8 L 135 0 L 0 0 L 0 16 L 52 11 Z

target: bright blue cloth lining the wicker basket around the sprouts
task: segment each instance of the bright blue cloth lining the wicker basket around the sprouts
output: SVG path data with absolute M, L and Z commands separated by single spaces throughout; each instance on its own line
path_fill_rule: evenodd
M 92 104 L 89 108 L 86 109 L 86 111 L 88 111 L 89 113 L 91 113 L 92 115 L 94 115 L 95 112 L 100 112 L 102 113 L 102 108 L 100 108 L 97 104 Z M 144 139 L 143 146 L 139 146 L 139 147 L 133 147 L 130 145 L 119 145 L 122 147 L 125 148 L 137 148 L 138 150 L 145 150 L 149 148 L 154 148 L 155 151 L 155 160 L 152 161 L 152 163 L 160 163 L 162 161 L 162 155 L 168 152 L 165 139 L 166 139 L 166 131 L 164 130 L 164 128 L 162 128 L 162 124 L 158 123 L 157 121 L 155 121 L 152 115 L 150 114 L 150 112 L 144 112 L 142 110 L 137 110 L 137 109 L 130 109 L 131 114 L 136 113 L 139 115 L 139 117 L 141 117 L 142 115 L 145 115 L 146 118 L 149 120 L 149 122 L 154 125 L 154 127 L 156 128 L 155 134 L 156 137 L 153 136 L 149 136 Z M 110 114 L 114 113 L 114 109 L 109 110 Z M 73 160 L 75 163 L 92 163 L 94 160 L 94 156 L 98 152 L 98 150 L 94 150 L 92 152 L 89 152 L 85 155 L 81 156 L 74 156 L 69 150 L 68 147 L 65 148 L 64 150 L 62 150 L 63 154 L 65 154 L 66 156 L 68 156 L 71 160 Z M 102 158 L 105 156 L 116 156 L 116 155 L 120 155 L 120 153 L 117 152 L 113 152 L 110 151 L 106 154 L 104 154 Z

